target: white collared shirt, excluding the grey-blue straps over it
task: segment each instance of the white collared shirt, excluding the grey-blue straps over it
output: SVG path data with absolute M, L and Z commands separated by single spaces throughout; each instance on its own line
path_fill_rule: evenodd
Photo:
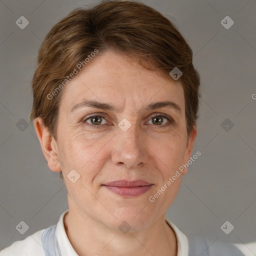
M 39 230 L 32 235 L 29 235 L 24 240 L 15 241 L 9 247 L 3 249 L 0 252 L 0 256 L 78 256 L 72 247 L 64 228 L 63 218 L 68 210 L 64 211 L 56 224 L 56 229 L 54 232 L 54 243 L 52 241 L 52 246 L 54 246 L 55 252 L 51 252 L 50 249 L 47 252 L 43 251 L 41 236 L 45 229 Z M 177 256 L 188 256 L 188 239 L 185 234 L 183 234 L 170 220 L 166 219 L 166 222 L 172 227 L 177 239 Z M 53 234 L 52 234 L 53 235 Z M 52 236 L 53 237 L 53 236 Z M 53 245 L 54 244 L 54 245 Z M 234 244 L 242 250 L 243 246 L 240 244 Z M 244 246 L 246 247 L 246 246 Z M 237 255 L 254 255 L 249 254 L 249 252 L 243 252 L 244 254 Z M 246 254 L 245 254 L 246 253 Z M 204 255 L 204 254 L 202 254 Z M 208 254 L 205 254 L 208 255 Z M 226 254 L 225 254 L 226 255 Z

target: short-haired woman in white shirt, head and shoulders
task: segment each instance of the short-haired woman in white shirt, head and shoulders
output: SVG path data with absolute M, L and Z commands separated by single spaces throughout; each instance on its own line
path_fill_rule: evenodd
M 165 218 L 196 137 L 199 75 L 159 12 L 130 1 L 73 10 L 44 38 L 32 89 L 30 119 L 68 210 L 1 256 L 242 255 Z

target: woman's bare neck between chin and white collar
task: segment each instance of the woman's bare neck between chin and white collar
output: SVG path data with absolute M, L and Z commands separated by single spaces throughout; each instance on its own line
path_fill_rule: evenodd
M 176 236 L 165 222 L 165 214 L 143 230 L 123 234 L 119 230 L 107 228 L 85 213 L 81 215 L 79 211 L 69 209 L 64 216 L 64 226 L 79 256 L 177 255 Z

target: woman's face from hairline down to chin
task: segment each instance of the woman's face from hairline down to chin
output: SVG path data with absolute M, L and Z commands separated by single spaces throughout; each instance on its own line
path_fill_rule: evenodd
M 169 186 L 166 182 L 189 159 L 196 136 L 194 130 L 187 140 L 177 82 L 108 51 L 65 85 L 56 143 L 69 209 L 113 229 L 126 221 L 139 230 L 165 214 L 182 175 Z M 172 103 L 150 108 L 160 101 Z M 106 185 L 116 180 L 150 185 Z M 155 197 L 164 184 L 165 191 Z

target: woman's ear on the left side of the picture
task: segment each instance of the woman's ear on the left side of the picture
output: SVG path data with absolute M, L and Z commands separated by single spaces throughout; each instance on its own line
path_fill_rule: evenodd
M 41 118 L 35 118 L 33 123 L 49 168 L 55 172 L 61 171 L 55 139 L 49 135 L 48 129 L 44 126 Z

